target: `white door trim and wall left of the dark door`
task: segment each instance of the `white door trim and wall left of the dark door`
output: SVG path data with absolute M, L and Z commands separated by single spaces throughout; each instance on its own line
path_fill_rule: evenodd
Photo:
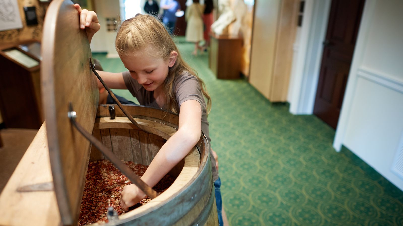
M 294 44 L 287 101 L 292 114 L 312 114 L 331 0 L 305 0 Z

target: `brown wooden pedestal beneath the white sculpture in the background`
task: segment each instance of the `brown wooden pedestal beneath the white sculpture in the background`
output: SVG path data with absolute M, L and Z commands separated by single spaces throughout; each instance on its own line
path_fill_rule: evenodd
M 210 34 L 209 66 L 219 79 L 237 79 L 241 73 L 242 39 Z

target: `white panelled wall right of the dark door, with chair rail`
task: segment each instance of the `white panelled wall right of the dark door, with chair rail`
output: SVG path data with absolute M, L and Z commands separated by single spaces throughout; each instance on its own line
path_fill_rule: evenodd
M 403 190 L 391 166 L 403 136 L 403 1 L 367 0 L 334 148 L 345 145 Z

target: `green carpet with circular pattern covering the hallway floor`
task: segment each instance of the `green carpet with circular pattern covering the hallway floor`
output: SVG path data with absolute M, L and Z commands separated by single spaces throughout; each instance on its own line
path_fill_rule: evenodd
M 330 126 L 271 104 L 244 79 L 216 79 L 207 53 L 193 57 L 193 44 L 177 42 L 213 100 L 210 136 L 230 225 L 403 225 L 403 192 L 349 150 L 334 151 Z M 106 71 L 125 69 L 94 57 Z

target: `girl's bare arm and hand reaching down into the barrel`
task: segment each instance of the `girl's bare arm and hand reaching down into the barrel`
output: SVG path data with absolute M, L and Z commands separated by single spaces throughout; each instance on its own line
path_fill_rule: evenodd
M 196 100 L 183 102 L 179 114 L 179 129 L 158 151 L 141 179 L 154 187 L 164 175 L 179 163 L 197 144 L 202 131 L 202 107 Z M 145 197 L 136 185 L 126 185 L 121 192 L 120 206 L 127 209 Z

